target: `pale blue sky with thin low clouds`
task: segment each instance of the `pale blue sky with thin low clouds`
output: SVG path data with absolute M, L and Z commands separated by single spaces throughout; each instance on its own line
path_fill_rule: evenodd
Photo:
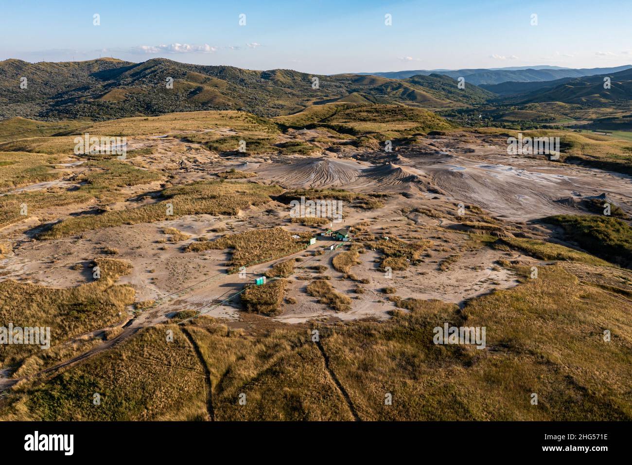
M 319 74 L 632 63 L 631 0 L 0 1 L 0 60 Z

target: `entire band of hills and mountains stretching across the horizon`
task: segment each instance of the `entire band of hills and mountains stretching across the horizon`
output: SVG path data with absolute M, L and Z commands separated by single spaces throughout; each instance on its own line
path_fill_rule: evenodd
M 255 71 L 233 66 L 188 65 L 163 58 L 143 63 L 114 58 L 64 63 L 7 59 L 0 61 L 0 80 L 8 83 L 0 86 L 0 118 L 107 120 L 209 109 L 279 116 L 332 102 L 405 104 L 451 110 L 487 103 L 565 102 L 609 106 L 632 99 L 632 66 L 629 65 L 592 70 L 423 72 L 401 71 L 417 73 L 405 78 L 368 74 L 325 76 L 293 70 Z M 564 76 L 542 80 L 556 73 Z M 574 77 L 574 73 L 586 75 Z M 481 84 L 480 87 L 472 82 L 475 77 L 492 75 L 520 80 Z M 465 89 L 458 87 L 456 78 L 460 76 L 466 79 Z M 611 78 L 609 89 L 604 89 L 605 76 Z M 27 87 L 22 89 L 20 80 L 24 77 Z M 528 79 L 532 80 L 525 81 Z M 171 87 L 170 82 L 173 82 Z

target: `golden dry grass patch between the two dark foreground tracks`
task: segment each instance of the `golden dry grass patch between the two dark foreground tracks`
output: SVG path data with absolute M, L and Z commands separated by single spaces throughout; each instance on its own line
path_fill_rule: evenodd
M 221 325 L 188 328 L 210 369 L 219 421 L 352 420 L 317 345 L 300 328 L 233 335 Z M 246 395 L 246 404 L 238 397 Z

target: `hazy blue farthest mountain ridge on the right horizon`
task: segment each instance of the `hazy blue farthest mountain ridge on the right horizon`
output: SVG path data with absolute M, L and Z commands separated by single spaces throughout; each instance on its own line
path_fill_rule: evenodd
M 616 66 L 614 68 L 557 68 L 554 66 L 533 66 L 532 68 L 496 68 L 496 69 L 464 69 L 464 70 L 410 70 L 387 71 L 384 73 L 360 73 L 391 79 L 406 79 L 415 75 L 428 76 L 442 74 L 454 79 L 465 77 L 468 84 L 501 84 L 502 82 L 537 82 L 552 81 L 561 78 L 577 78 L 607 73 L 616 73 L 632 68 L 632 65 Z

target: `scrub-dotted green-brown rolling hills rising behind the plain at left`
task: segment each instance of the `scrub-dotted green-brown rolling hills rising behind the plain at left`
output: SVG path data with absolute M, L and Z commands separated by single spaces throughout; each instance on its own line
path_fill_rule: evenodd
M 21 77 L 27 77 L 27 89 L 20 89 Z M 315 77 L 317 89 L 312 87 Z M 336 101 L 441 109 L 478 104 L 494 95 L 473 85 L 459 90 L 455 80 L 441 75 L 407 80 L 324 76 L 188 65 L 162 58 L 143 63 L 112 58 L 66 63 L 8 59 L 0 62 L 0 78 L 15 83 L 0 88 L 0 118 L 44 120 L 106 120 L 209 109 L 279 116 Z

